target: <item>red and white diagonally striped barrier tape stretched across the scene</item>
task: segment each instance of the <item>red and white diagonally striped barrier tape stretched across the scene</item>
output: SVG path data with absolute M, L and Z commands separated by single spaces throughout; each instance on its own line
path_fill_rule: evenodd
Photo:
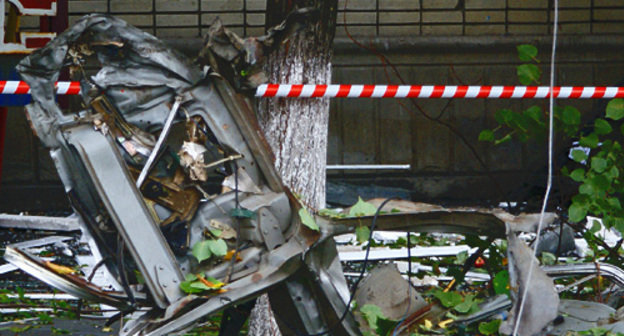
M 555 86 L 559 99 L 624 98 L 624 87 Z M 23 81 L 0 81 L 0 94 L 28 94 Z M 76 95 L 79 82 L 58 82 L 56 93 Z M 468 85 L 348 85 L 348 84 L 262 84 L 256 97 L 292 98 L 548 98 L 548 86 L 468 86 Z

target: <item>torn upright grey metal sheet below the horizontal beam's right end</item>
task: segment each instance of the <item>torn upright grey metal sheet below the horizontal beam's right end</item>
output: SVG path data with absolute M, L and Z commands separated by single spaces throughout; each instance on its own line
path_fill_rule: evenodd
M 511 230 L 507 235 L 507 244 L 510 293 L 514 305 L 509 318 L 503 321 L 499 331 L 506 335 L 512 334 L 518 320 L 518 335 L 532 336 L 541 332 L 557 317 L 559 294 L 553 280 L 539 267 L 533 251 Z M 531 266 L 531 278 L 528 279 Z M 529 282 L 530 287 L 527 287 Z M 518 318 L 523 297 L 524 308 Z

